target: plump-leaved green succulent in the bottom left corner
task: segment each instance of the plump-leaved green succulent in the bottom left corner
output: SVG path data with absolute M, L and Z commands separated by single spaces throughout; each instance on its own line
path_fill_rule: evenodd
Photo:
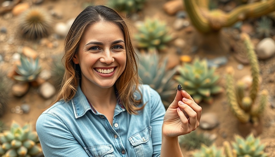
M 13 122 L 10 131 L 0 133 L 0 155 L 31 157 L 42 152 L 37 143 L 39 143 L 37 132 L 32 132 L 30 124 L 25 124 L 21 128 L 19 124 Z

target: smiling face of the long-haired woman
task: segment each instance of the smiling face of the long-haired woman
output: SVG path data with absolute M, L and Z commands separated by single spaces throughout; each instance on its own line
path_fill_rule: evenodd
M 73 60 L 81 68 L 81 86 L 113 86 L 126 66 L 122 30 L 110 22 L 89 26 Z

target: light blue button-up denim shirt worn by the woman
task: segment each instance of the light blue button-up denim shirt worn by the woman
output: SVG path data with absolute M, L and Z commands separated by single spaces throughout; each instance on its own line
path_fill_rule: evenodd
M 117 103 L 111 125 L 93 109 L 78 86 L 74 98 L 56 102 L 37 119 L 36 130 L 44 156 L 160 156 L 165 108 L 150 86 L 140 85 L 139 89 L 142 102 L 147 102 L 144 109 L 131 115 Z

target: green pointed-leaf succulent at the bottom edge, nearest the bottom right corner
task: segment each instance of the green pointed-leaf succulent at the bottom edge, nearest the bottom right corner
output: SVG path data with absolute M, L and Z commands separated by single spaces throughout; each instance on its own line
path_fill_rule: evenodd
M 232 146 L 238 157 L 267 157 L 268 155 L 264 152 L 265 145 L 260 142 L 260 138 L 254 138 L 252 133 L 246 139 L 235 135 Z

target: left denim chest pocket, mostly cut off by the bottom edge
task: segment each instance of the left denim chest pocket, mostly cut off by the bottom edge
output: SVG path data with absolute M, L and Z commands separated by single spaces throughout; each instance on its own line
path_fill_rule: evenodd
M 114 157 L 114 148 L 110 145 L 84 147 L 90 157 Z

